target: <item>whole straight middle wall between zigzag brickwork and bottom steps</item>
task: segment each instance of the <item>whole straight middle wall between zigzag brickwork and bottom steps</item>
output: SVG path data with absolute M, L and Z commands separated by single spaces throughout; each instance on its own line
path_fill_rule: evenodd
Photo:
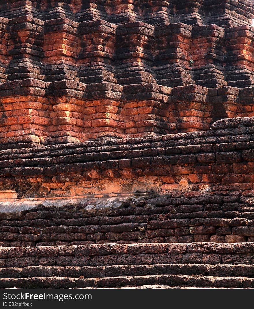
M 2 245 L 252 241 L 253 123 L 1 150 Z

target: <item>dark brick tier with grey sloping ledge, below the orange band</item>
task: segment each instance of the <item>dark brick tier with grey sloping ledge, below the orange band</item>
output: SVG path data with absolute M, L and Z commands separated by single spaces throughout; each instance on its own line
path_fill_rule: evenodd
M 2 201 L 0 241 L 9 247 L 253 241 L 253 197 L 223 193 Z

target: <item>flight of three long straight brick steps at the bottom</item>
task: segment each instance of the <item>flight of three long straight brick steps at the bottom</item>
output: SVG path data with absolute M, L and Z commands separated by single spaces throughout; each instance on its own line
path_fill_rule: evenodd
M 254 243 L 2 248 L 3 288 L 253 288 Z

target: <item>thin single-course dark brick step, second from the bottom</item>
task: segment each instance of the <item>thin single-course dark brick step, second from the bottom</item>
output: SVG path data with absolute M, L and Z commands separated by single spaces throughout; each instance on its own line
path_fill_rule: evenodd
M 105 278 L 145 275 L 203 275 L 216 277 L 254 277 L 254 265 L 156 264 L 114 266 L 27 266 L 0 269 L 0 278 L 68 277 Z

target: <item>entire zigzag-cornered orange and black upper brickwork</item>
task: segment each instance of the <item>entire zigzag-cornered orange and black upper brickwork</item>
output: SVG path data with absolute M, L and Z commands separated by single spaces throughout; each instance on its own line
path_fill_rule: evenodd
M 2 0 L 0 141 L 202 131 L 254 116 L 250 0 Z

